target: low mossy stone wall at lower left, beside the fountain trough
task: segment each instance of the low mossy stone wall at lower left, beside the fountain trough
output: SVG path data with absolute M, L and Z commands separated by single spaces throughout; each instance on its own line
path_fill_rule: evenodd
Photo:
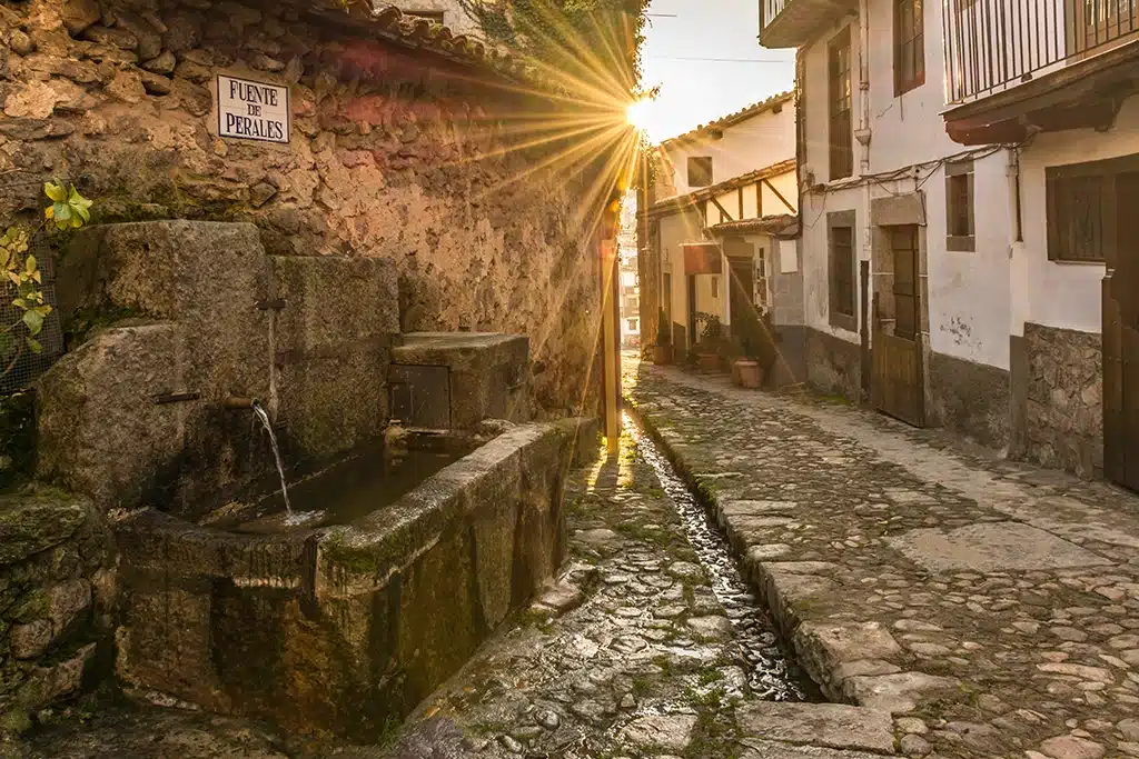
M 46 488 L 0 496 L 0 736 L 107 659 L 113 547 L 84 501 Z

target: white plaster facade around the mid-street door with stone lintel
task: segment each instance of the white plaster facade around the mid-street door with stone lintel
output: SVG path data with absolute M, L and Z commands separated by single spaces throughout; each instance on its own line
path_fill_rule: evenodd
M 969 149 L 952 142 L 945 133 L 941 112 L 945 107 L 941 8 L 925 3 L 925 84 L 894 96 L 893 9 L 888 0 L 870 2 L 870 173 L 883 174 L 924 165 L 915 179 L 871 185 L 872 197 L 888 192 L 909 193 L 920 189 L 926 196 L 929 341 L 937 353 L 1007 369 L 1008 329 L 1013 321 L 1010 298 L 1011 216 L 1009 185 L 1005 174 L 1007 155 L 999 151 L 975 159 L 974 214 L 976 249 L 950 253 L 945 249 L 945 178 L 940 162 L 968 157 Z M 829 180 L 828 43 L 845 26 L 836 25 L 805 51 L 805 139 L 808 171 L 816 182 Z M 853 125 L 861 114 L 859 98 L 859 30 L 851 25 L 853 56 Z M 854 176 L 860 175 L 861 146 L 854 141 Z M 805 176 L 805 171 L 804 171 Z M 849 181 L 849 180 L 846 180 Z M 826 214 L 855 209 L 858 257 L 865 250 L 869 209 L 863 208 L 860 185 L 838 192 L 811 195 L 804 200 L 803 266 L 808 325 L 854 341 L 855 332 L 829 324 L 828 242 Z M 764 207 L 764 213 L 770 213 Z M 857 294 L 860 298 L 861 294 Z M 858 306 L 861 308 L 861 304 Z M 859 311 L 858 313 L 861 313 Z

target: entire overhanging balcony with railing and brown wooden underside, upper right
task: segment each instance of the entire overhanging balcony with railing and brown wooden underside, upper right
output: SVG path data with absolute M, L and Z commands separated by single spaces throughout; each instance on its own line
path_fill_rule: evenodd
M 945 0 L 943 14 L 945 123 L 962 145 L 1106 127 L 1136 91 L 1139 0 Z

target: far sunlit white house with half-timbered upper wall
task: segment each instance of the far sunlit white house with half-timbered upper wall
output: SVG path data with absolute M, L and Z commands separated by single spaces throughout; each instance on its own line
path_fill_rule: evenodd
M 730 333 L 743 310 L 770 312 L 785 368 L 801 366 L 794 96 L 666 140 L 656 164 L 639 240 L 642 323 L 653 330 L 646 341 L 656 338 L 658 308 L 678 357 L 698 341 L 700 314 Z M 790 241 L 781 247 L 782 238 Z

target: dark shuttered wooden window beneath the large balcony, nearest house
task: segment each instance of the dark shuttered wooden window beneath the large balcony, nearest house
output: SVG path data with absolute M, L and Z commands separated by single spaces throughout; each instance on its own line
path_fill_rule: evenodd
M 1104 174 L 1048 179 L 1048 257 L 1052 261 L 1106 259 Z

